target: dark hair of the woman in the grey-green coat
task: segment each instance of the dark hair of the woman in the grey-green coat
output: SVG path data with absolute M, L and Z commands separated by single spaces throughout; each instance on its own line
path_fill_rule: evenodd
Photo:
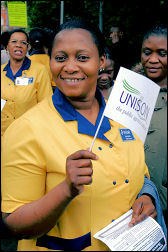
M 167 37 L 167 26 L 165 24 L 154 25 L 151 29 L 149 29 L 145 33 L 142 44 L 150 36 L 164 36 L 164 37 Z

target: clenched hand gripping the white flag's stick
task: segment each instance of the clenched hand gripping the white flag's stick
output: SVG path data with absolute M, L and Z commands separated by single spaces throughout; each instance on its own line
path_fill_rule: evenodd
M 88 150 L 80 150 L 70 155 L 66 160 L 66 181 L 70 196 L 75 197 L 83 191 L 84 185 L 92 183 L 92 162 L 98 157 Z

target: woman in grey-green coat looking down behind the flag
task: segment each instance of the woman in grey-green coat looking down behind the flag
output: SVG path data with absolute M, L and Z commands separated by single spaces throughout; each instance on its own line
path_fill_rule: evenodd
M 156 184 L 167 224 L 167 26 L 155 25 L 145 34 L 141 48 L 145 75 L 160 86 L 145 141 L 145 157 Z

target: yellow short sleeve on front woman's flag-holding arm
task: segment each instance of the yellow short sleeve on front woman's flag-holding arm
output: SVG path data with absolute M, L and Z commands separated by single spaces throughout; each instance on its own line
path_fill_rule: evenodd
M 1 211 L 11 213 L 45 194 L 46 167 L 28 120 L 20 117 L 6 130 L 1 151 Z

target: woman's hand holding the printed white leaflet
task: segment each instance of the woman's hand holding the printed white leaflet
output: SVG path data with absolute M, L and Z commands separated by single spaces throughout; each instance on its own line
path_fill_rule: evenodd
M 152 199 L 148 195 L 142 195 L 134 202 L 133 206 L 132 219 L 129 223 L 129 226 L 133 226 L 138 222 L 141 222 L 148 216 L 155 218 L 157 212 L 155 206 L 152 203 Z

